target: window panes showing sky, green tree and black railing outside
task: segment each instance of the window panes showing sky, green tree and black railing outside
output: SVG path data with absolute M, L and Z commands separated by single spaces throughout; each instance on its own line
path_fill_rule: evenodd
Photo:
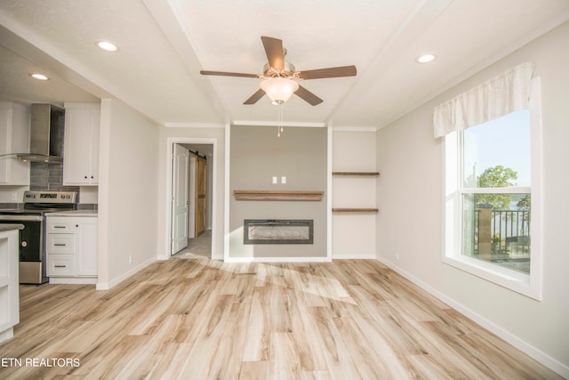
M 529 275 L 529 110 L 472 126 L 461 140 L 461 255 Z

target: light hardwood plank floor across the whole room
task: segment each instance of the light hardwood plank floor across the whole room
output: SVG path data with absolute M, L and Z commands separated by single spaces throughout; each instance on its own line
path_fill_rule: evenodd
M 555 379 L 371 260 L 154 263 L 108 291 L 21 286 L 0 378 Z M 49 364 L 49 363 L 48 363 Z

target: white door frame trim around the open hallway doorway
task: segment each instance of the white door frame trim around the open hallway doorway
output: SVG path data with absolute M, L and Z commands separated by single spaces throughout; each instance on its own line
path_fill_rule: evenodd
M 172 257 L 172 196 L 173 196 L 173 188 L 172 188 L 172 170 L 173 170 L 173 146 L 174 144 L 204 144 L 204 145 L 212 145 L 213 146 L 213 154 L 212 154 L 212 255 L 211 257 L 216 257 L 215 253 L 213 252 L 214 242 L 217 241 L 218 234 L 222 233 L 222 231 L 215 228 L 217 223 L 217 192 L 218 192 L 218 183 L 217 183 L 217 173 L 219 170 L 219 159 L 218 159 L 218 139 L 216 138 L 208 138 L 208 137 L 168 137 L 166 139 L 166 146 L 167 146 L 167 154 L 166 158 L 168 160 L 168 170 L 166 170 L 166 230 L 165 230 L 165 246 L 164 252 L 166 253 L 165 256 L 170 259 Z

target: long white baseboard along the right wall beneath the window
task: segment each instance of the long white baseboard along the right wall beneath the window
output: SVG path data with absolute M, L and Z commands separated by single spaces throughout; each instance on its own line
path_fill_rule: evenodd
M 481 315 L 477 314 L 477 312 L 472 311 L 469 308 L 462 305 L 461 303 L 456 302 L 455 300 L 453 300 L 453 298 L 444 295 L 434 287 L 431 287 L 429 284 L 423 282 L 421 279 L 417 279 L 412 274 L 402 270 L 396 264 L 389 262 L 388 260 L 385 260 L 381 257 L 375 257 L 375 259 L 387 265 L 393 271 L 397 271 L 397 273 L 405 277 L 405 279 L 410 280 L 411 282 L 413 282 L 413 284 L 417 285 L 418 287 L 421 287 L 421 289 L 426 290 L 427 292 L 429 292 L 430 295 L 434 295 L 442 302 L 451 306 L 454 310 L 459 311 L 465 317 L 475 321 L 478 325 L 485 327 L 485 329 L 492 332 L 494 335 L 499 336 L 501 339 L 508 342 L 509 344 L 513 345 L 519 351 L 524 352 L 528 356 L 532 357 L 534 360 L 539 361 L 545 367 L 551 369 L 552 371 L 557 372 L 558 375 L 563 376 L 565 378 L 569 378 L 569 367 L 561 363 L 559 360 L 555 360 L 546 353 L 536 349 L 532 345 L 525 343 L 517 336 L 510 334 L 502 327 L 494 324 L 493 321 L 485 319 Z

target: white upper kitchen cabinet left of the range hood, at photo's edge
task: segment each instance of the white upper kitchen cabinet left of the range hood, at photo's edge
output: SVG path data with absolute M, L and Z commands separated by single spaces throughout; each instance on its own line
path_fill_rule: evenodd
M 0 102 L 0 185 L 28 185 L 29 163 L 12 153 L 29 152 L 29 108 Z

